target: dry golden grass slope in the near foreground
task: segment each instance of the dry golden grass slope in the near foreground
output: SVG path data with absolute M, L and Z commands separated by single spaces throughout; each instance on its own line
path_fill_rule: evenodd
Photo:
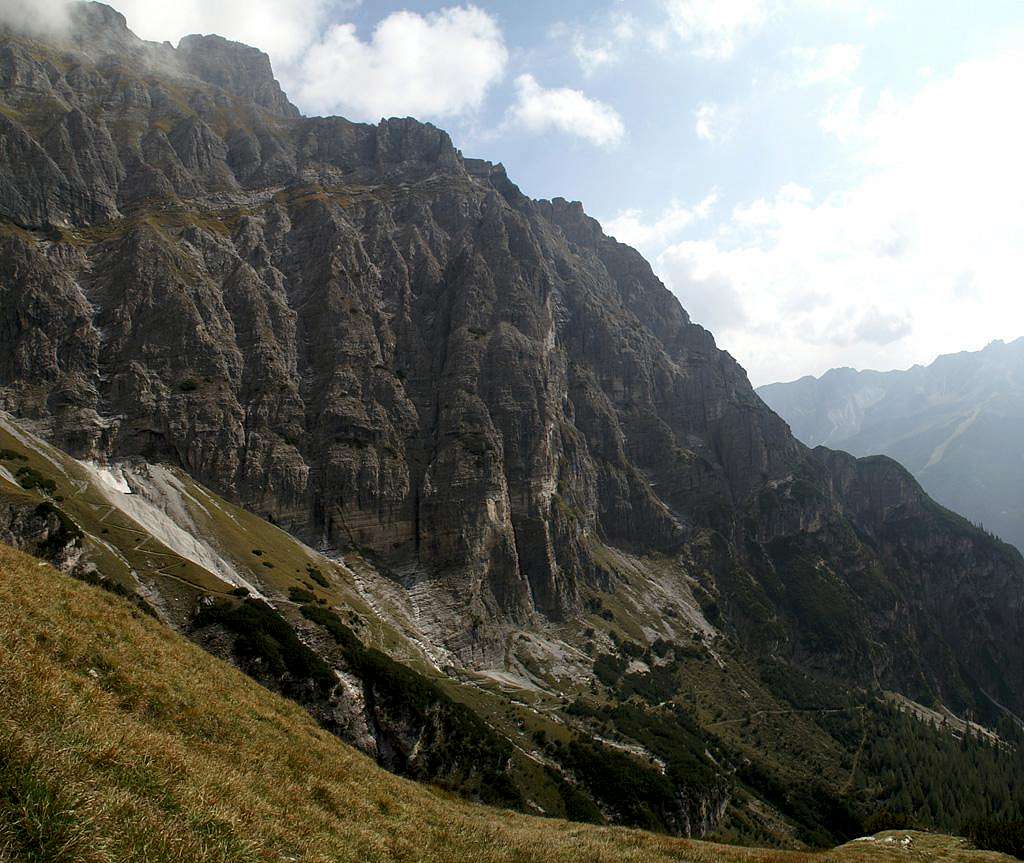
M 912 834 L 823 855 L 473 806 L 380 770 L 122 600 L 0 547 L 0 860 L 999 860 Z

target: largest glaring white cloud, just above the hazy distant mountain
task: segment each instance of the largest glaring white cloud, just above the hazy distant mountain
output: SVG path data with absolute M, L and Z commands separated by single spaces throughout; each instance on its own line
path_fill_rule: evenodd
M 834 112 L 852 169 L 843 187 L 791 184 L 735 206 L 656 269 L 696 320 L 719 321 L 756 383 L 1020 336 L 1024 116 L 1006 88 L 1022 79 L 1024 50 L 1008 50 L 907 97 L 846 96 Z

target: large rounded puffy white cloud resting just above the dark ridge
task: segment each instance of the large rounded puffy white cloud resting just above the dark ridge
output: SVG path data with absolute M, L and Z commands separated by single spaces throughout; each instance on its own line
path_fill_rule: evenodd
M 350 24 L 332 27 L 294 72 L 296 100 L 362 120 L 451 117 L 475 111 L 505 73 L 508 51 L 495 19 L 475 6 L 421 15 L 393 12 L 369 42 Z

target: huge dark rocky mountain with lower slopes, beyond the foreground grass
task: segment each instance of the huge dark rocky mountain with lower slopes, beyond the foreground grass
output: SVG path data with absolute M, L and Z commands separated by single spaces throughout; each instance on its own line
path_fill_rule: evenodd
M 89 3 L 0 35 L 0 179 L 6 542 L 472 800 L 1024 818 L 1020 554 L 800 443 L 580 204 Z

